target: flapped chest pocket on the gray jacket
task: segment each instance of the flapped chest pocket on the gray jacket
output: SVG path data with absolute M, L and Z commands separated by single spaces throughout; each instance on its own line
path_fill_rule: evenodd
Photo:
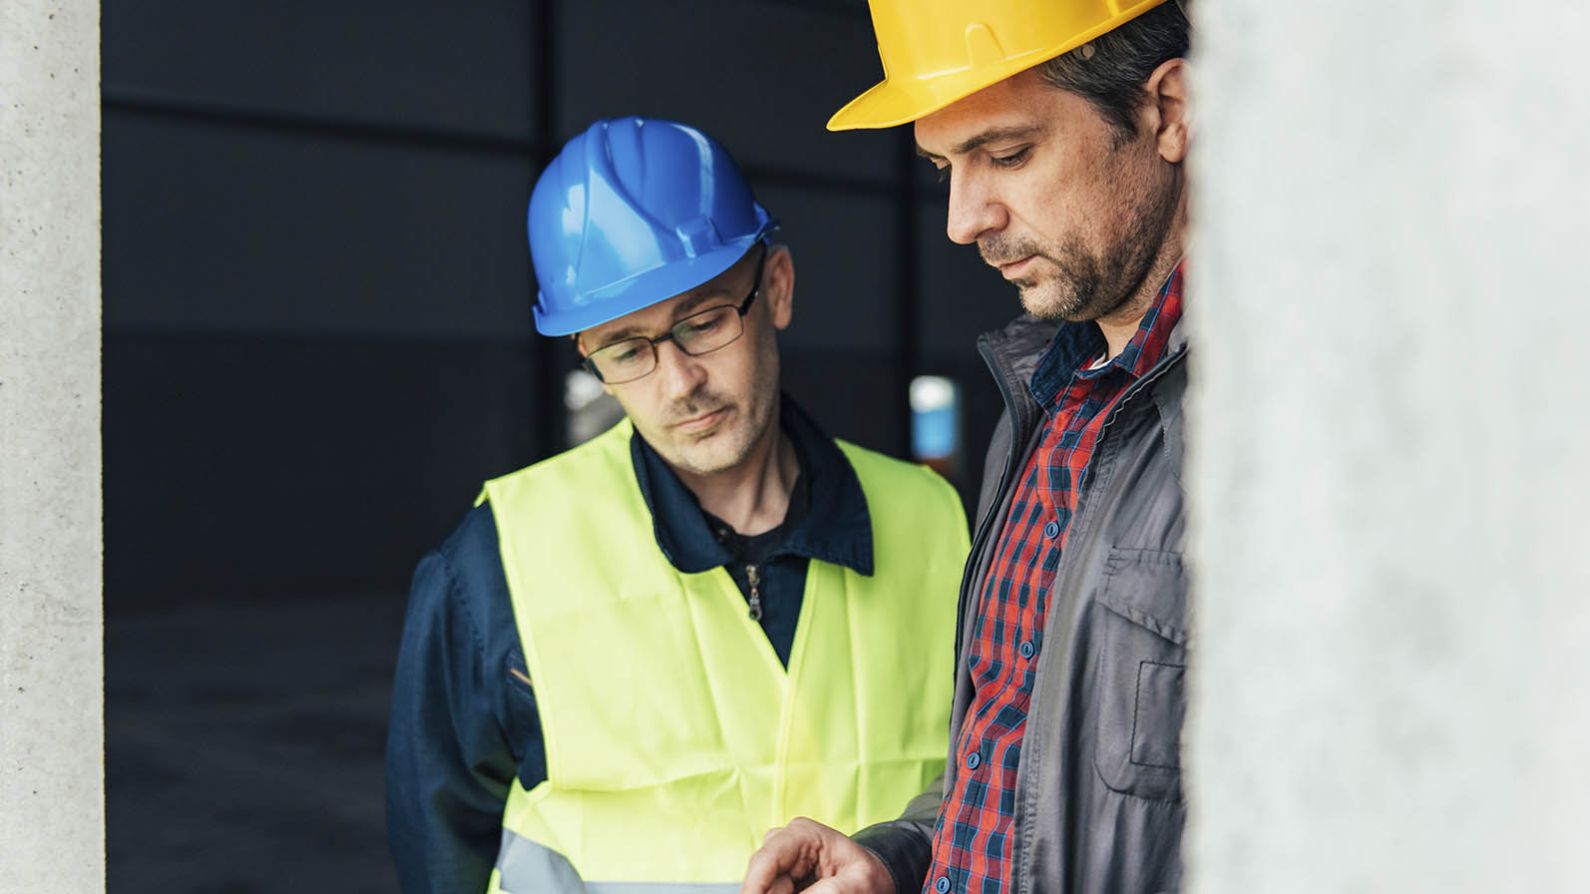
M 1094 601 L 1099 711 L 1094 767 L 1110 789 L 1181 800 L 1186 573 L 1173 552 L 1110 552 Z

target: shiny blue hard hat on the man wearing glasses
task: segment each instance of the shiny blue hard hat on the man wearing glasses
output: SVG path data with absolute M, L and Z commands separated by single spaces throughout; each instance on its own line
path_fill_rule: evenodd
M 536 329 L 568 336 L 690 291 L 774 226 L 735 159 L 701 130 L 598 121 L 529 196 Z

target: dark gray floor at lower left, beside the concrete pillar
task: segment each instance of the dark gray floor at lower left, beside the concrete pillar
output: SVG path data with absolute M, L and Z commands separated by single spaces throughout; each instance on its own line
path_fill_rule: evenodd
M 382 749 L 402 600 L 107 620 L 111 894 L 396 891 Z

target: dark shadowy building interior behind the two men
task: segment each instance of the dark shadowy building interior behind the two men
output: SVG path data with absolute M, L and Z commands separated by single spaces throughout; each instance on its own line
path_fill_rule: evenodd
M 970 499 L 1014 291 L 908 129 L 833 135 L 863 0 L 103 5 L 110 889 L 390 891 L 420 555 L 609 425 L 533 332 L 525 204 L 595 118 L 696 124 L 798 259 L 785 383 Z

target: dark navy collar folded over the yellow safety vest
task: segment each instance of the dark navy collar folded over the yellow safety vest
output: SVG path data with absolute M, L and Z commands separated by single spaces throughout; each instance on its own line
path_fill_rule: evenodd
M 779 425 L 795 447 L 800 474 L 811 503 L 806 515 L 785 534 L 774 552 L 843 565 L 857 574 L 873 573 L 873 525 L 855 469 L 817 423 L 789 395 L 779 399 Z M 630 458 L 658 549 L 685 574 L 709 571 L 733 560 L 712 536 L 695 493 L 636 431 Z

